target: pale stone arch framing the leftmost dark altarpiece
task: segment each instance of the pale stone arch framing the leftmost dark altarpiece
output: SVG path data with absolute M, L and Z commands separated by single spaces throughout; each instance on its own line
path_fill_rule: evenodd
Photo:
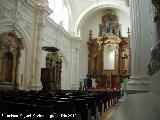
M 24 58 L 22 60 L 24 62 L 24 64 L 21 64 L 21 62 L 20 62 L 20 64 L 18 65 L 17 82 L 21 83 L 21 86 L 19 86 L 20 89 L 27 89 L 28 80 L 29 80 L 29 76 L 30 76 L 29 65 L 30 65 L 30 61 L 31 61 L 31 59 L 30 59 L 31 56 L 29 56 L 29 53 L 31 53 L 31 49 L 30 49 L 31 48 L 31 42 L 30 42 L 31 38 L 20 24 L 13 24 L 9 20 L 0 20 L 0 28 L 3 28 L 0 31 L 0 34 L 7 33 L 9 31 L 14 30 L 16 32 L 17 36 L 22 39 L 22 44 L 24 46 L 24 50 L 22 50 L 22 51 L 23 51 L 24 55 L 21 56 L 21 58 L 22 57 Z M 20 58 L 20 60 L 21 60 L 21 58 Z M 23 69 L 24 71 L 22 71 L 21 69 Z M 23 79 L 23 81 L 21 81 L 22 79 Z

